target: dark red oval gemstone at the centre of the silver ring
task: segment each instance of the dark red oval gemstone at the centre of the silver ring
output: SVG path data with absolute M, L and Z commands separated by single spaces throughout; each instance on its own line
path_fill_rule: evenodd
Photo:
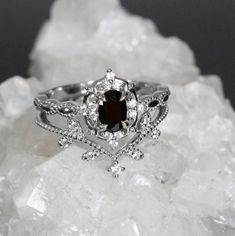
M 121 130 L 121 121 L 126 120 L 127 106 L 125 100 L 120 101 L 121 95 L 117 90 L 109 90 L 104 94 L 106 101 L 99 106 L 99 120 L 102 124 L 108 125 L 107 131 Z

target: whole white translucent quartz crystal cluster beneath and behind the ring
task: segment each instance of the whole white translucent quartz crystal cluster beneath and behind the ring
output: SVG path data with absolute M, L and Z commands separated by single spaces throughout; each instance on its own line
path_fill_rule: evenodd
M 235 235 L 234 111 L 185 43 L 116 0 L 58 0 L 31 60 L 37 79 L 0 85 L 1 236 Z M 60 150 L 32 107 L 39 91 L 109 67 L 172 94 L 158 144 L 143 142 L 142 160 L 123 158 L 128 171 L 114 163 L 118 179 L 104 159 L 84 162 L 76 145 Z

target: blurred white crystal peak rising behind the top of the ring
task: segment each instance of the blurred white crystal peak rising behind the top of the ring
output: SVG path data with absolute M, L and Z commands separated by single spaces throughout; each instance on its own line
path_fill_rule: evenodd
M 150 20 L 131 16 L 117 0 L 57 1 L 31 54 L 34 75 L 54 86 L 120 77 L 186 83 L 199 76 L 194 56 L 178 38 L 164 38 Z

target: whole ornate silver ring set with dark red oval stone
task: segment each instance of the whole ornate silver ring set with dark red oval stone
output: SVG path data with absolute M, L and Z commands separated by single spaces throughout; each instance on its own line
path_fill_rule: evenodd
M 120 157 L 142 159 L 144 154 L 136 146 L 144 138 L 160 136 L 158 125 L 168 114 L 169 96 L 166 86 L 124 80 L 108 69 L 99 80 L 39 94 L 34 100 L 39 110 L 36 124 L 61 135 L 61 148 L 75 142 L 88 146 L 83 160 L 108 157 L 107 170 L 118 177 L 125 170 Z

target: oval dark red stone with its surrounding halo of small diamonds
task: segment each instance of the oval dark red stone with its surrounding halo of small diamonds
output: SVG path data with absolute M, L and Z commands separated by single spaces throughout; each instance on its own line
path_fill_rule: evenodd
M 85 120 L 97 137 L 107 140 L 112 147 L 116 147 L 118 139 L 128 135 L 137 121 L 137 103 L 132 85 L 117 78 L 111 70 L 108 70 L 104 78 L 94 82 L 89 88 L 89 93 L 84 96 L 84 104 L 88 110 Z M 117 112 L 115 108 L 120 111 Z M 107 115 L 107 112 L 111 114 Z M 117 119 L 115 128 L 110 128 L 112 119 Z

